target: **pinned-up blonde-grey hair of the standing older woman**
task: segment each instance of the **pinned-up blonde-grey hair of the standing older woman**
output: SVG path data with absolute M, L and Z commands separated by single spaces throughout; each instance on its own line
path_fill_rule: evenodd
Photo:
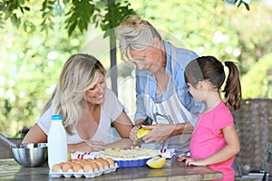
M 161 40 L 160 33 L 138 15 L 129 16 L 116 28 L 116 37 L 119 40 L 121 59 L 131 60 L 130 50 L 142 51 L 154 44 L 154 38 Z

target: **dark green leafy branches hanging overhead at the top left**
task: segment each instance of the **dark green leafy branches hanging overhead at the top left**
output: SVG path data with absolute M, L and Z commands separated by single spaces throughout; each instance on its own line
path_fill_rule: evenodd
M 95 1 L 95 0 L 73 0 L 73 1 L 60 1 L 60 0 L 43 0 L 33 1 L 33 4 L 41 4 L 42 8 L 39 10 L 42 22 L 30 22 L 24 19 L 28 14 L 27 12 L 34 11 L 34 6 L 27 5 L 29 0 L 13 0 L 4 1 L 0 4 L 0 21 L 4 23 L 10 20 L 15 27 L 19 28 L 20 25 L 24 26 L 25 31 L 34 31 L 35 26 L 40 26 L 41 31 L 48 33 L 53 29 L 53 25 L 57 23 L 57 18 L 65 17 L 62 25 L 67 30 L 69 36 L 75 31 L 76 28 L 81 33 L 87 31 L 90 23 L 95 24 L 96 27 L 100 26 L 103 31 L 108 31 L 118 24 L 129 14 L 133 14 L 128 1 Z M 1 14 L 5 15 L 3 19 Z M 92 21 L 91 21 L 92 20 Z M 106 34 L 107 35 L 107 34 Z

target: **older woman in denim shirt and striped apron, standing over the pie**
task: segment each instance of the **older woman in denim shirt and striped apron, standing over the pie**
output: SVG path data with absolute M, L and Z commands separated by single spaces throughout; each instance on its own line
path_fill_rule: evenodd
M 126 19 L 116 35 L 122 59 L 136 65 L 136 127 L 131 139 L 142 122 L 151 119 L 156 125 L 145 126 L 151 132 L 142 139 L 186 154 L 196 116 L 204 109 L 193 100 L 184 80 L 186 65 L 198 55 L 162 41 L 160 33 L 137 15 Z

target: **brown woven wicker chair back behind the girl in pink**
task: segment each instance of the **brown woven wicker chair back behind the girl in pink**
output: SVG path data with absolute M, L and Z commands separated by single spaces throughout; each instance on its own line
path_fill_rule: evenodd
M 242 175 L 248 175 L 264 167 L 267 143 L 272 142 L 272 100 L 242 100 L 241 108 L 231 112 L 241 147 L 236 159 Z

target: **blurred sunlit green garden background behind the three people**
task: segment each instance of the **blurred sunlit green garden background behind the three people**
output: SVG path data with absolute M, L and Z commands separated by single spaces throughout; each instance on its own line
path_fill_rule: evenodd
M 85 22 L 86 30 L 81 26 L 74 26 L 74 30 L 65 27 L 65 16 L 69 16 L 71 9 L 64 1 L 17 2 L 31 9 L 23 8 L 27 14 L 21 10 L 17 19 L 5 20 L 8 14 L 3 14 L 0 4 L 0 132 L 7 137 L 21 137 L 21 131 L 39 118 L 63 63 L 73 53 L 87 52 L 99 58 L 108 69 L 107 83 L 111 88 L 111 48 L 109 37 L 103 38 L 105 28 L 109 27 L 102 22 L 107 13 L 106 1 L 92 2 L 99 14 L 94 12 L 96 17 Z M 40 11 L 45 7 L 43 2 L 52 3 L 52 8 L 46 6 L 48 14 Z M 271 1 L 253 0 L 250 10 L 245 5 L 219 0 L 116 2 L 125 11 L 133 10 L 149 20 L 165 40 L 177 46 L 199 55 L 214 55 L 220 61 L 237 62 L 244 99 L 272 98 Z M 77 8 L 88 14 L 88 6 Z M 118 50 L 117 69 L 119 98 L 132 119 L 133 67 L 121 62 Z

